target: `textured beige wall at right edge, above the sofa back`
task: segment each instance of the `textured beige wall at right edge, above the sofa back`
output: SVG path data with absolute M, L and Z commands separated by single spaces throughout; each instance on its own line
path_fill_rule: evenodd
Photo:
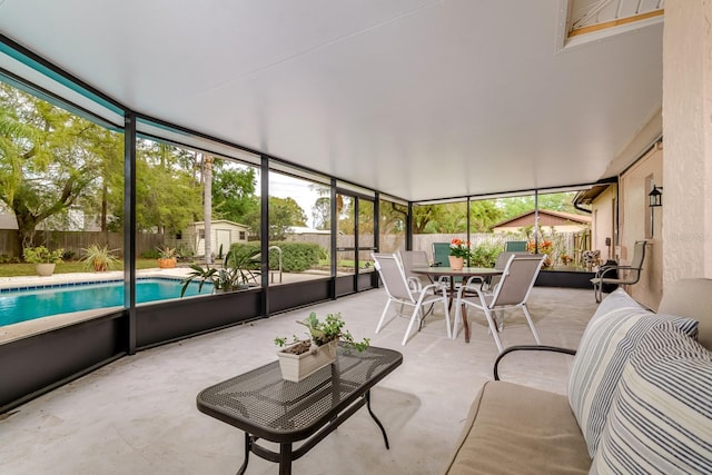
M 664 283 L 712 278 L 712 2 L 665 2 Z

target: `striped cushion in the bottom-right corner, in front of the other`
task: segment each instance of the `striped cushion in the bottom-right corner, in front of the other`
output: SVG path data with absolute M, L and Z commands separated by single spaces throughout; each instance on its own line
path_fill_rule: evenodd
M 591 473 L 712 473 L 712 353 L 671 324 L 623 369 Z

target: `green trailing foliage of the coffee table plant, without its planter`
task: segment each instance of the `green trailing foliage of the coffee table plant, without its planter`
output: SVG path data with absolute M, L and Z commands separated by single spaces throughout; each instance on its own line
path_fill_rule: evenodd
M 342 318 L 342 314 L 327 314 L 324 320 L 319 320 L 316 316 L 316 311 L 312 311 L 304 320 L 297 320 L 299 325 L 304 325 L 309 330 L 309 338 L 298 339 L 294 337 L 294 345 L 285 349 L 285 352 L 295 353 L 300 355 L 309 350 L 312 345 L 322 346 L 329 342 L 338 340 L 345 342 L 349 346 L 356 348 L 358 352 L 363 352 L 368 348 L 370 339 L 364 338 L 360 342 L 356 342 L 350 331 L 344 328 L 346 323 Z M 275 338 L 275 345 L 284 347 L 287 345 L 287 338 Z

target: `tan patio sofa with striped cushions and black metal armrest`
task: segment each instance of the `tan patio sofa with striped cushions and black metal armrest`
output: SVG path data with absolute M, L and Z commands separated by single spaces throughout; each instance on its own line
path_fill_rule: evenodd
M 444 473 L 712 473 L 712 279 L 669 286 L 657 314 L 609 295 L 570 350 L 567 395 L 497 380 L 533 348 L 556 350 L 500 356 Z

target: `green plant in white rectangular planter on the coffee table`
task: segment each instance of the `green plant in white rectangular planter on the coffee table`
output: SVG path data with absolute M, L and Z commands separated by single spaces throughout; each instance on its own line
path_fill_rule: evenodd
M 281 377 L 286 380 L 298 383 L 334 363 L 339 342 L 345 342 L 358 352 L 366 349 L 370 343 L 368 338 L 354 340 L 352 334 L 344 328 L 342 314 L 327 314 L 324 320 L 319 320 L 316 313 L 312 311 L 307 318 L 297 323 L 308 328 L 308 338 L 299 339 L 295 336 L 290 345 L 287 344 L 287 338 L 275 338 L 275 344 L 284 347 L 277 352 L 277 357 Z

